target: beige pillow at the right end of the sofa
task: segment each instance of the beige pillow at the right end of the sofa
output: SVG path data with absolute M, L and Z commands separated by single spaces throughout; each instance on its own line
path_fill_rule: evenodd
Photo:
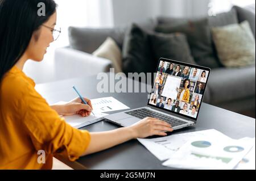
M 255 64 L 255 39 L 249 23 L 212 28 L 213 41 L 221 63 L 227 67 Z

